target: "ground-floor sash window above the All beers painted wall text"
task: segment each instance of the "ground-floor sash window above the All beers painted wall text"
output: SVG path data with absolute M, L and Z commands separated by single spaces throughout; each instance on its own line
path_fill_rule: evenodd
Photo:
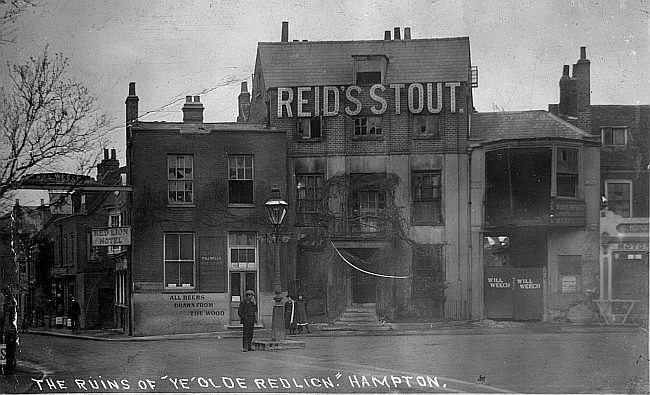
M 165 289 L 193 289 L 194 234 L 165 233 Z

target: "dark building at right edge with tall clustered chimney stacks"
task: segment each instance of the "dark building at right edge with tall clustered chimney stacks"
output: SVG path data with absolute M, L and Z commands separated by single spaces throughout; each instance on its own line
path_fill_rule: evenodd
M 564 66 L 560 103 L 549 105 L 549 111 L 589 131 L 602 144 L 602 313 L 613 323 L 629 314 L 628 323 L 647 325 L 650 105 L 592 105 L 589 64 L 582 47 L 572 75 Z M 634 306 L 628 301 L 635 301 Z

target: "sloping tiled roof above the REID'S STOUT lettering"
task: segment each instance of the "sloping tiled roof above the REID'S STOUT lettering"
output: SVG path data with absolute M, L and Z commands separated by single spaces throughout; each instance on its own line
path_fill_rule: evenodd
M 262 42 L 258 62 L 266 88 L 314 85 L 351 85 L 353 56 L 385 56 L 385 82 L 468 81 L 469 37 Z

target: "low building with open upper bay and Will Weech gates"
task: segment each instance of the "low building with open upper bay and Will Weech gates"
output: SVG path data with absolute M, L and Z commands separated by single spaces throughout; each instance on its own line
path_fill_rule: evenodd
M 591 319 L 599 151 L 546 111 L 472 115 L 472 234 L 488 319 Z

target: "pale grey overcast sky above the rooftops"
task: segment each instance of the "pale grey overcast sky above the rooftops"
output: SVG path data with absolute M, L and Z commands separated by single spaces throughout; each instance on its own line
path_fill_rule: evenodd
M 205 122 L 234 122 L 258 42 L 469 37 L 479 112 L 547 109 L 563 65 L 587 48 L 592 104 L 650 104 L 650 0 L 41 0 L 0 46 L 2 65 L 69 58 L 111 120 L 108 148 L 125 163 L 124 100 L 136 83 L 140 119 L 182 121 L 200 95 Z M 432 59 L 435 62 L 435 59 Z

